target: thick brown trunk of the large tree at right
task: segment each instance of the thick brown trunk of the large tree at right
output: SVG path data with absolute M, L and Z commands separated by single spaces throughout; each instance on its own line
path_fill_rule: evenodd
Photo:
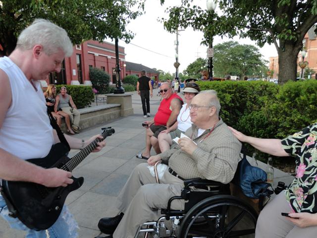
M 295 81 L 297 77 L 297 56 L 301 47 L 293 43 L 285 43 L 285 50 L 278 49 L 278 84 L 288 80 Z

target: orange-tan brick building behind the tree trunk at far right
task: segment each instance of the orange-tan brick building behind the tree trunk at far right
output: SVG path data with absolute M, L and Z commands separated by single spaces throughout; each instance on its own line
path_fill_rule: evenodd
M 317 72 L 317 35 L 315 34 L 316 25 L 314 25 L 305 35 L 303 45 L 306 50 L 304 61 L 308 61 L 308 67 Z M 297 57 L 297 72 L 301 73 L 301 68 L 298 63 L 302 61 L 301 52 Z M 274 70 L 272 78 L 278 78 L 278 56 L 269 58 L 269 69 Z M 317 74 L 312 75 L 312 78 L 317 79 Z

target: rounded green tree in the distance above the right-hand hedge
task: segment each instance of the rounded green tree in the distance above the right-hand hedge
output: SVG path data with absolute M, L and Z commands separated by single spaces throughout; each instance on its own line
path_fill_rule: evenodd
M 214 47 L 213 70 L 215 77 L 226 74 L 243 78 L 257 75 L 264 67 L 259 49 L 252 45 L 240 45 L 236 41 L 224 42 Z

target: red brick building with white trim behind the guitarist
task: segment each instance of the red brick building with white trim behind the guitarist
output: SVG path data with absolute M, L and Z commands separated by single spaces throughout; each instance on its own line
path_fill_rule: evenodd
M 148 71 L 149 76 L 154 76 L 156 79 L 159 72 L 146 67 L 142 64 L 126 62 L 124 47 L 119 46 L 119 64 L 121 80 L 130 74 L 140 75 L 141 70 Z M 142 65 L 137 66 L 137 65 Z M 104 70 L 110 75 L 110 83 L 115 84 L 115 45 L 108 42 L 98 42 L 89 40 L 80 45 L 74 46 L 74 52 L 71 57 L 65 58 L 62 62 L 61 71 L 59 73 L 51 73 L 45 84 L 84 84 L 91 85 L 89 78 L 89 68 L 96 67 Z M 126 69 L 129 70 L 126 70 Z

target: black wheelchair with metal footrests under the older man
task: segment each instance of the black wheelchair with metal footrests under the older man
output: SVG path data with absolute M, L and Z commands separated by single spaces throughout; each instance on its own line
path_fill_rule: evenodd
M 246 160 L 245 152 L 242 153 Z M 232 187 L 238 187 L 233 183 L 187 179 L 184 185 L 181 196 L 171 197 L 167 208 L 161 209 L 162 216 L 157 221 L 141 224 L 134 238 L 254 237 L 258 215 L 265 200 L 269 200 L 273 193 L 267 188 L 262 191 L 260 199 L 249 199 L 255 202 L 250 204 L 245 199 L 231 195 Z M 175 199 L 185 200 L 184 210 L 170 208 Z

